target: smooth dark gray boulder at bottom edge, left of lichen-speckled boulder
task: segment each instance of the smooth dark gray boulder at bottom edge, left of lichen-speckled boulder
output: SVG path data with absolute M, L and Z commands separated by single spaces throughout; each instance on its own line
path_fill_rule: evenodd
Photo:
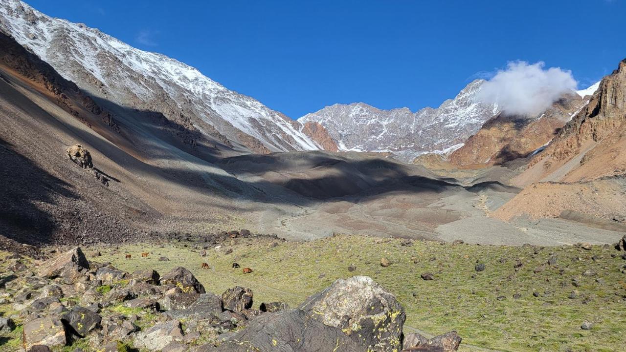
M 224 341 L 219 352 L 365 352 L 340 329 L 299 309 L 267 313 Z

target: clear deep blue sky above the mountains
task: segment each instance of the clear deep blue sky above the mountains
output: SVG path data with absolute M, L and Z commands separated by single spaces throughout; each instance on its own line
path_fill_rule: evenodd
M 26 0 L 200 69 L 292 118 L 363 101 L 439 106 L 508 61 L 579 87 L 626 58 L 626 0 Z

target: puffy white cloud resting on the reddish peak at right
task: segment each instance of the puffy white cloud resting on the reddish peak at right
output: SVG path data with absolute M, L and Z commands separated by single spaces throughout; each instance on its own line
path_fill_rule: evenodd
M 544 69 L 545 63 L 526 61 L 508 63 L 483 84 L 476 94 L 478 101 L 496 103 L 508 114 L 534 116 L 540 114 L 563 93 L 576 89 L 572 71 L 561 68 Z

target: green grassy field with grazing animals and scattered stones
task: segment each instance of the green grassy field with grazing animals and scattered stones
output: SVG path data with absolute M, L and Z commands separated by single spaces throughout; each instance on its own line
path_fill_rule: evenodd
M 456 329 L 463 351 L 626 351 L 626 274 L 620 272 L 626 261 L 612 248 L 566 246 L 535 254 L 531 247 L 419 241 L 402 246 L 399 239 L 361 236 L 279 242 L 275 247 L 271 243 L 237 239 L 210 249 L 205 258 L 191 244 L 128 245 L 100 249 L 103 255 L 90 259 L 110 261 L 130 272 L 154 268 L 164 274 L 185 266 L 216 294 L 232 286 L 250 287 L 255 305 L 279 300 L 297 306 L 337 278 L 362 274 L 396 294 L 406 309 L 405 331 L 440 334 Z M 233 252 L 224 254 L 226 247 Z M 141 258 L 146 251 L 149 258 Z M 125 253 L 133 259 L 125 259 Z M 158 261 L 160 256 L 170 261 Z M 557 263 L 551 266 L 546 263 L 552 256 Z M 382 268 L 382 257 L 393 264 Z M 523 263 L 518 271 L 513 268 L 516 259 Z M 210 268 L 201 269 L 203 262 Z M 233 262 L 254 273 L 242 274 L 242 269 L 232 268 Z M 485 271 L 477 273 L 476 263 L 484 263 Z M 351 264 L 356 266 L 353 272 L 348 271 Z M 426 272 L 434 280 L 421 279 Z M 574 290 L 575 298 L 568 298 Z M 583 321 L 593 328 L 581 329 Z

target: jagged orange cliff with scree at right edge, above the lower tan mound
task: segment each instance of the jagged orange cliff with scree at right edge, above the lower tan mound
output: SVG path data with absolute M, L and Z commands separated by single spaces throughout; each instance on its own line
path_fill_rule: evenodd
M 518 183 L 582 181 L 626 173 L 626 60 L 602 79 L 587 106 L 569 121 Z

